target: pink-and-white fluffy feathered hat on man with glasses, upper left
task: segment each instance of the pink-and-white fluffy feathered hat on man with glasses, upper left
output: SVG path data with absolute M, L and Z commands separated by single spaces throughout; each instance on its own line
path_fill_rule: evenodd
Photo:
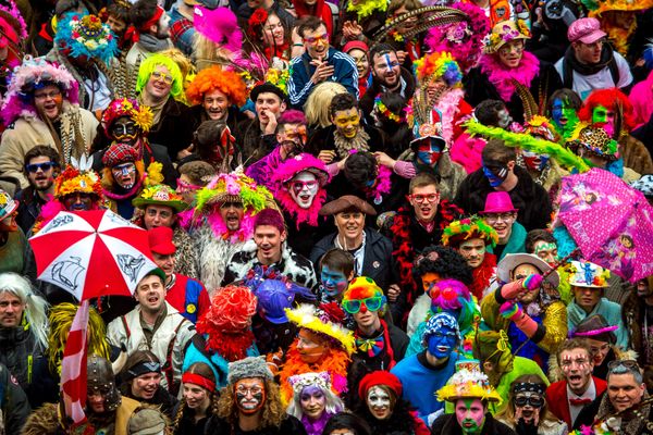
M 42 58 L 26 55 L 23 63 L 14 69 L 4 96 L 4 124 L 9 125 L 20 116 L 37 116 L 33 100 L 34 90 L 49 85 L 59 87 L 64 100 L 73 104 L 79 102 L 79 84 L 65 67 Z

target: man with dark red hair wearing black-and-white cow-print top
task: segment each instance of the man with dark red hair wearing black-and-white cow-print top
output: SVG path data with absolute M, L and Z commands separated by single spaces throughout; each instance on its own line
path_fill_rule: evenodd
M 223 286 L 244 279 L 258 266 L 273 268 L 281 276 L 303 287 L 316 289 L 318 282 L 312 263 L 296 253 L 286 243 L 287 232 L 281 213 L 263 209 L 254 219 L 254 240 L 236 251 L 226 266 Z

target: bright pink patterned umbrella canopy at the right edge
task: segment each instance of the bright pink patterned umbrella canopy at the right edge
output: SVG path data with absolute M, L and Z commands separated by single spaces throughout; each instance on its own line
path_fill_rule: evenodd
M 558 223 L 582 257 L 636 282 L 653 273 L 653 207 L 618 176 L 600 169 L 563 177 Z

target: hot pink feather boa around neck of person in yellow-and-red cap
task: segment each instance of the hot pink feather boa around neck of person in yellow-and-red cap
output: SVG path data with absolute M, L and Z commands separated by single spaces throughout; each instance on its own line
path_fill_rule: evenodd
M 531 82 L 540 72 L 540 61 L 534 54 L 523 51 L 519 66 L 507 69 L 493 54 L 485 54 L 480 61 L 481 72 L 488 74 L 490 83 L 494 85 L 502 100 L 510 101 L 515 94 L 513 78 L 530 88 Z

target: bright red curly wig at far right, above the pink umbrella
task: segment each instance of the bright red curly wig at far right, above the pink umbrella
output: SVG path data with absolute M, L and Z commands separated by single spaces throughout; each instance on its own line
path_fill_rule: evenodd
M 615 137 L 618 139 L 634 127 L 634 113 L 632 103 L 617 88 L 594 90 L 584 101 L 584 105 L 578 111 L 578 117 L 586 123 L 592 123 L 594 109 L 603 105 L 607 110 L 615 112 Z

